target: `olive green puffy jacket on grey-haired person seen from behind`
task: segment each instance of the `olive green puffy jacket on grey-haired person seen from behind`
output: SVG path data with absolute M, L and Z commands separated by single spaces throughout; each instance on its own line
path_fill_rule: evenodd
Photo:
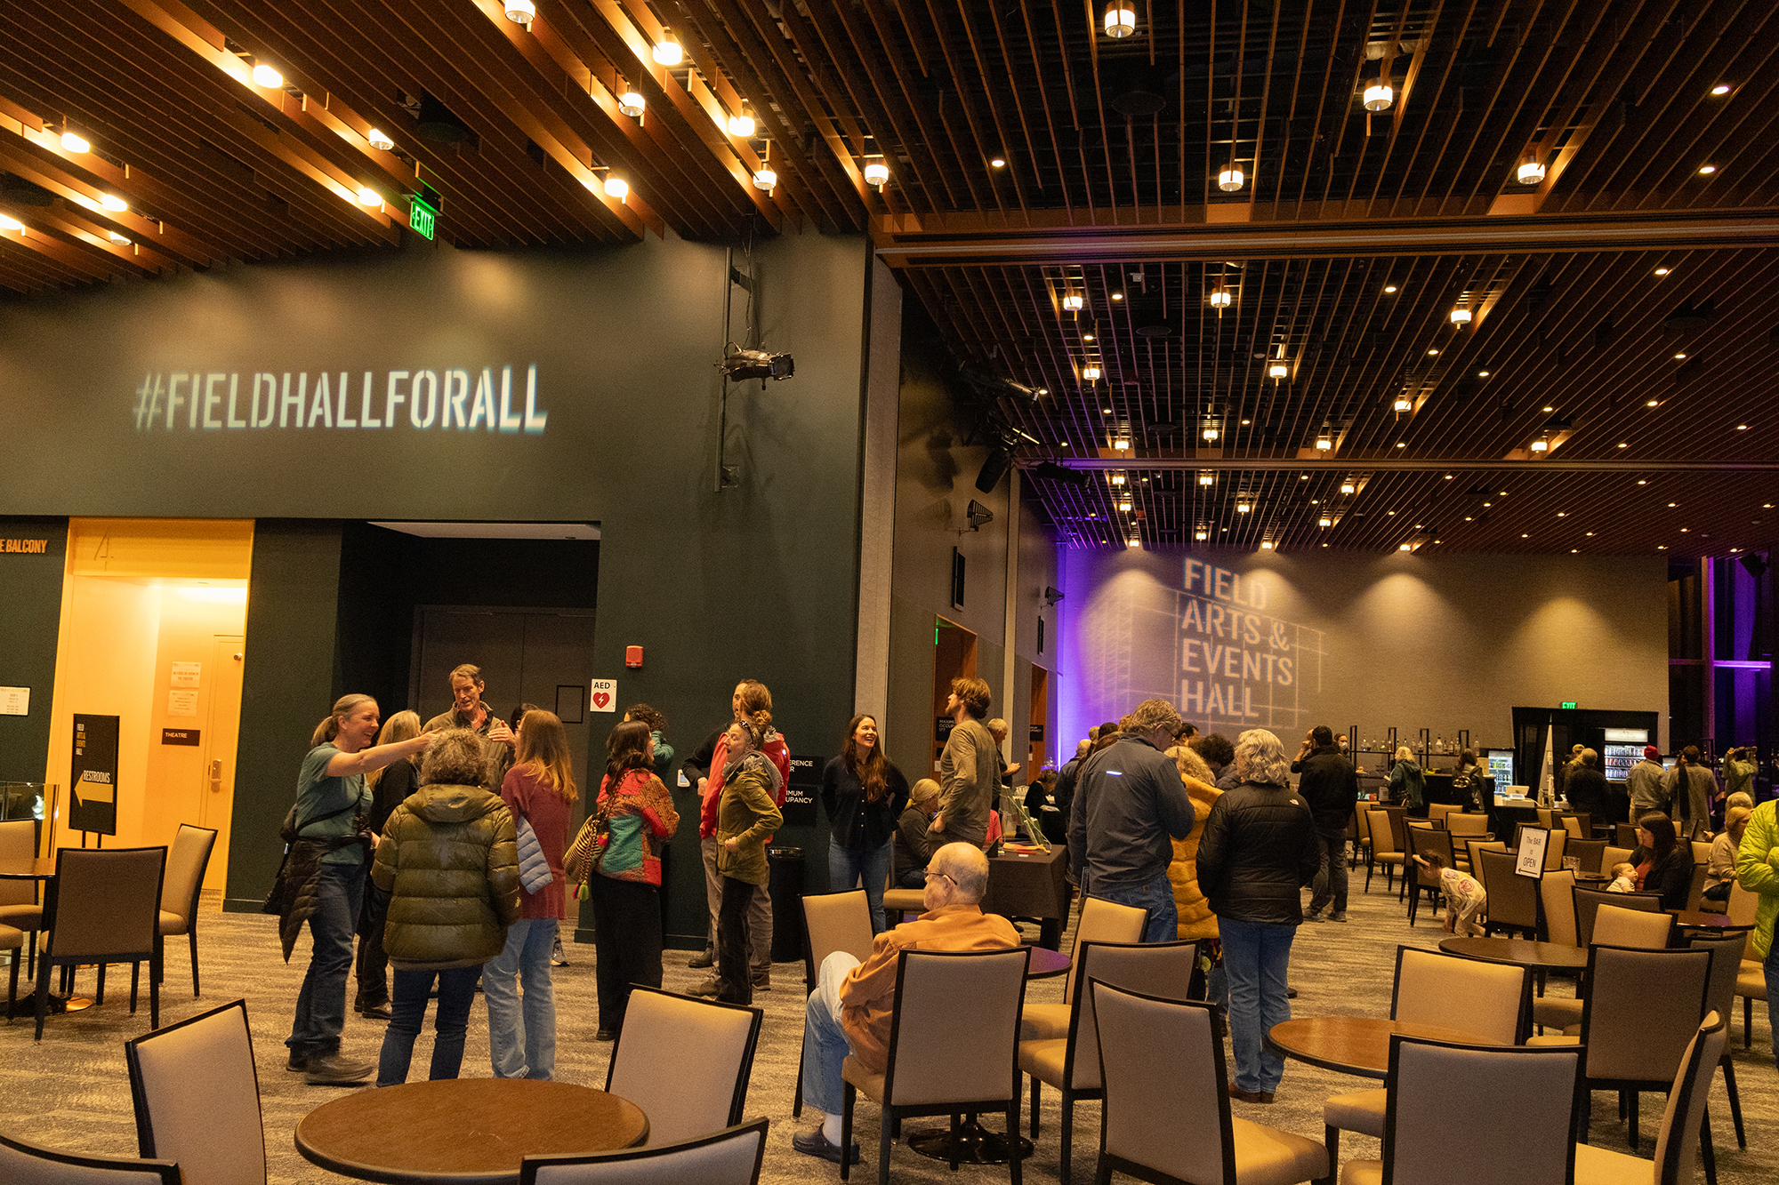
M 512 813 L 480 786 L 420 786 L 390 815 L 370 877 L 393 893 L 382 931 L 391 966 L 487 963 L 519 920 Z

